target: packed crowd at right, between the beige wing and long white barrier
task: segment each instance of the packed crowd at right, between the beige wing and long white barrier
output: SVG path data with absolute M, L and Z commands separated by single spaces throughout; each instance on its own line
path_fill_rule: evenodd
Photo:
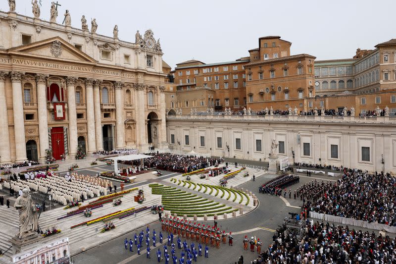
M 322 195 L 310 198 L 307 211 L 396 226 L 396 178 L 389 173 L 347 171 Z

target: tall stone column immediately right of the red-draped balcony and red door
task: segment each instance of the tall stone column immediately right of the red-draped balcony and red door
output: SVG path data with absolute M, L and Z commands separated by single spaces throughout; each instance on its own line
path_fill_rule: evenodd
M 67 113 L 69 118 L 69 156 L 74 158 L 77 153 L 77 113 L 76 91 L 74 86 L 78 77 L 66 77 Z

